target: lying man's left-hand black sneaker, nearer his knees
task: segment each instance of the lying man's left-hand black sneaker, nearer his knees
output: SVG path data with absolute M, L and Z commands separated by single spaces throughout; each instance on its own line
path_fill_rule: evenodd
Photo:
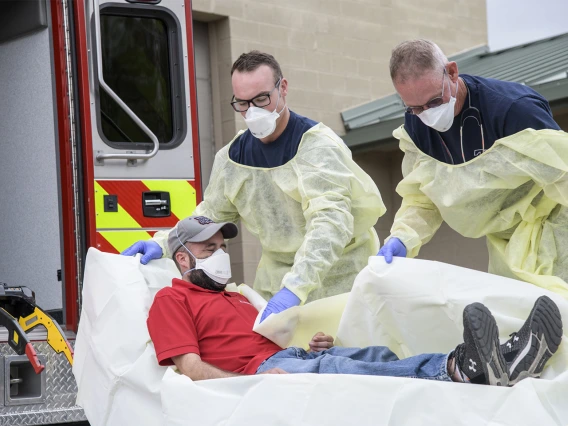
M 507 386 L 509 377 L 507 364 L 499 350 L 499 329 L 483 304 L 472 303 L 465 307 L 463 341 L 454 351 L 456 369 L 462 380 Z

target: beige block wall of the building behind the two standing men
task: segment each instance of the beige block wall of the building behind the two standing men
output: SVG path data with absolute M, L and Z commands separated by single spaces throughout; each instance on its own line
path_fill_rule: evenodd
M 193 0 L 192 7 L 194 19 L 209 23 L 216 149 L 244 128 L 229 105 L 230 67 L 243 52 L 273 54 L 289 81 L 291 109 L 342 135 L 341 111 L 393 92 L 388 61 L 397 43 L 428 38 L 446 54 L 487 43 L 485 0 Z M 400 162 L 372 158 L 360 161 L 383 196 L 396 200 L 388 194 Z M 384 235 L 390 223 L 377 226 Z M 230 250 L 235 279 L 252 283 L 257 241 L 243 232 Z

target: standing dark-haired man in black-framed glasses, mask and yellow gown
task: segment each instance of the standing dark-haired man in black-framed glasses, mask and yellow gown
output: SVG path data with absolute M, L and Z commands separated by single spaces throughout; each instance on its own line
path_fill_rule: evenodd
M 242 54 L 231 78 L 231 105 L 248 130 L 217 153 L 194 214 L 241 219 L 260 240 L 254 288 L 273 296 L 265 317 L 349 291 L 378 250 L 377 186 L 330 128 L 288 109 L 288 81 L 272 55 Z M 169 255 L 166 239 L 158 232 L 123 254 L 142 252 L 142 263 Z

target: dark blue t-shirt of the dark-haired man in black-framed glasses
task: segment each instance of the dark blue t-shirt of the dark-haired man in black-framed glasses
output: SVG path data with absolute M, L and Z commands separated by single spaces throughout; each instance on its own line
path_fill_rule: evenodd
M 290 111 L 288 124 L 278 139 L 262 143 L 247 130 L 231 145 L 229 158 L 235 163 L 251 167 L 282 166 L 294 158 L 302 136 L 316 124 L 318 123 Z

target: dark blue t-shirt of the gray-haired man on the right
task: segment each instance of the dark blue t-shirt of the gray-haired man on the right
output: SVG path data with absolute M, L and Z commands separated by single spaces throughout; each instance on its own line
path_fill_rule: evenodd
M 405 115 L 404 128 L 416 146 L 436 160 L 448 164 L 463 163 L 460 147 L 462 114 L 465 119 L 463 126 L 465 161 L 482 153 L 481 129 L 476 120 L 468 118 L 479 118 L 475 111 L 467 110 L 470 97 L 471 106 L 477 108 L 481 115 L 486 150 L 496 140 L 521 130 L 529 128 L 560 130 L 552 118 L 546 99 L 530 87 L 467 74 L 460 74 L 460 77 L 467 85 L 469 95 L 465 99 L 462 112 L 454 117 L 452 127 L 447 132 L 438 132 L 426 126 L 416 115 Z M 452 92 L 454 90 L 452 85 Z

